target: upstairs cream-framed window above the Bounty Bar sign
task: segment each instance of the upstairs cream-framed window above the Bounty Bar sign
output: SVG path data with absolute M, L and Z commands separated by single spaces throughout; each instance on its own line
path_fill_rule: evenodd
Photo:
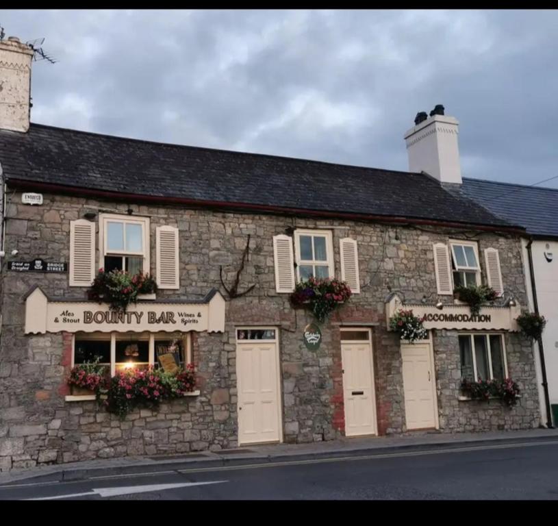
M 100 266 L 137 274 L 149 272 L 149 218 L 101 214 Z

